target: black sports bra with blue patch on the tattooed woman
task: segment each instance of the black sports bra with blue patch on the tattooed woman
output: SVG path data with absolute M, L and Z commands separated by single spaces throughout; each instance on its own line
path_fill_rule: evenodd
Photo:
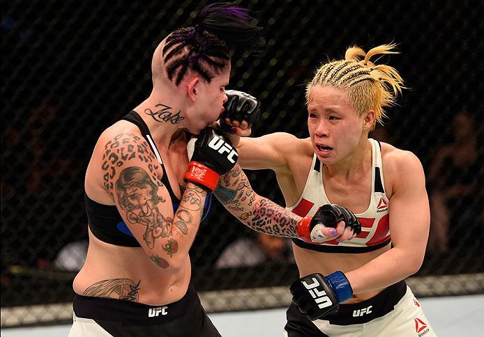
M 128 122 L 135 124 L 142 132 L 144 139 L 146 139 L 146 142 L 149 144 L 156 157 L 161 158 L 158 148 L 156 148 L 155 143 L 151 141 L 152 138 L 148 126 L 146 123 L 144 123 L 144 120 L 139 117 L 136 111 L 130 111 L 121 119 L 128 120 Z M 163 172 L 165 172 L 165 166 L 163 166 L 162 160 L 160 160 L 160 165 Z M 162 176 L 161 182 L 168 189 L 169 196 L 172 199 L 173 212 L 176 212 L 180 204 L 180 199 L 174 194 L 172 187 L 169 185 L 169 180 L 166 174 Z M 121 217 L 121 214 L 119 214 L 119 211 L 115 205 L 103 205 L 101 203 L 96 203 L 96 201 L 93 201 L 91 198 L 89 198 L 86 193 L 84 193 L 84 200 L 86 202 L 89 228 L 95 237 L 103 242 L 115 244 L 116 246 L 141 246 L 133 233 L 131 233 L 128 226 L 126 226 L 126 223 L 123 221 L 123 218 Z M 210 197 L 207 197 L 205 200 L 204 215 L 200 221 L 203 221 L 209 214 L 211 201 L 212 199 L 210 194 Z

